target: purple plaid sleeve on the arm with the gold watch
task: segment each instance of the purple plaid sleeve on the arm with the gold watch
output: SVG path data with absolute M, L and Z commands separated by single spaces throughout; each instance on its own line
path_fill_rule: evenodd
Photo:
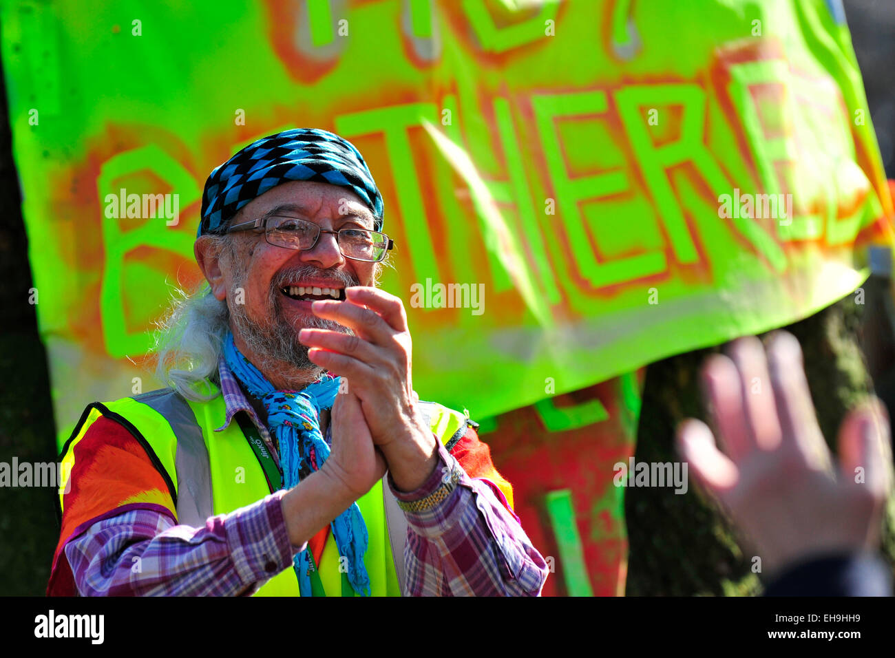
M 471 478 L 439 442 L 439 466 L 416 491 L 398 500 L 422 500 L 441 486 L 451 468 L 460 480 L 445 500 L 420 512 L 405 512 L 406 592 L 411 596 L 537 596 L 547 579 L 546 561 L 519 519 L 499 500 L 499 488 Z

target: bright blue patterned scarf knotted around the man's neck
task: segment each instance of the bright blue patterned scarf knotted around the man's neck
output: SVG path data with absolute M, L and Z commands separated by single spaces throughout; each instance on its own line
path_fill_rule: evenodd
M 243 383 L 252 397 L 257 398 L 268 412 L 268 428 L 279 442 L 280 466 L 283 470 L 283 488 L 290 489 L 299 483 L 303 465 L 316 471 L 329 457 L 329 445 L 320 434 L 320 411 L 333 406 L 338 393 L 340 378 L 324 375 L 320 381 L 299 391 L 283 391 L 264 378 L 233 342 L 233 334 L 227 334 L 224 342 L 224 358 L 236 379 Z M 357 503 L 345 509 L 330 524 L 340 556 L 346 559 L 348 582 L 354 592 L 370 595 L 370 577 L 363 566 L 363 554 L 367 551 L 367 526 L 363 522 Z M 311 553 L 305 549 L 294 557 L 293 567 L 301 585 L 302 595 L 311 593 Z

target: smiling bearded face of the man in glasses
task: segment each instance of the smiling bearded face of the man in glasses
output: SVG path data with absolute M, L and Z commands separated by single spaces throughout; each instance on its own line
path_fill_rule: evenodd
M 371 210 L 354 192 L 308 181 L 291 181 L 268 190 L 244 206 L 230 225 L 268 214 L 302 218 L 331 231 L 374 227 Z M 303 369 L 317 367 L 308 360 L 307 347 L 298 341 L 299 330 L 351 331 L 315 316 L 311 303 L 334 298 L 333 291 L 338 299 L 345 299 L 347 286 L 374 285 L 379 264 L 345 258 L 333 234 L 321 233 L 308 251 L 268 244 L 260 232 L 240 231 L 230 238 L 234 258 L 222 259 L 221 269 L 236 346 L 261 360 L 273 358 Z M 238 288 L 243 289 L 242 295 Z M 329 295 L 323 294 L 327 288 Z

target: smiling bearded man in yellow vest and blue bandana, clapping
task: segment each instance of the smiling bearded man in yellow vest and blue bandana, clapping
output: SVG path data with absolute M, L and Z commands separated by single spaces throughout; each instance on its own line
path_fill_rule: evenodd
M 331 132 L 209 175 L 208 286 L 158 355 L 171 388 L 85 410 L 48 594 L 540 594 L 475 423 L 413 392 L 403 304 L 375 287 L 382 225 Z

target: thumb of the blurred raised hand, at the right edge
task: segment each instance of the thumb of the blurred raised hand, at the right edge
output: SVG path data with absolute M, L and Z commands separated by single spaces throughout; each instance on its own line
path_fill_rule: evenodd
M 840 425 L 840 470 L 843 482 L 866 487 L 877 500 L 891 489 L 889 418 L 874 397 L 852 410 Z

